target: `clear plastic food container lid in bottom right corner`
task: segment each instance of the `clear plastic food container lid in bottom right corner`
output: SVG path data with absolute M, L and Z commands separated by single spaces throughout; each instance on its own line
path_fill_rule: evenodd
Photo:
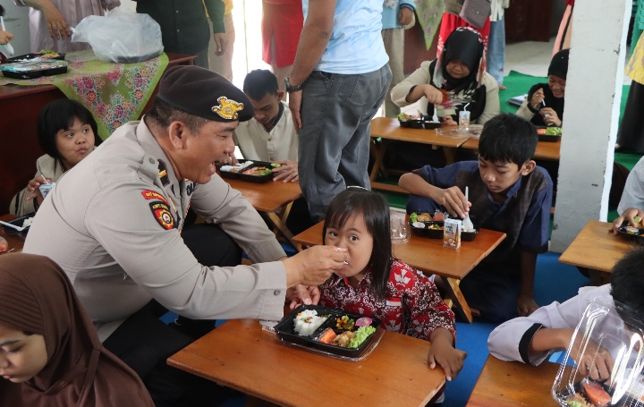
M 596 366 L 609 375 L 598 377 Z M 562 406 L 644 406 L 642 369 L 644 324 L 629 307 L 599 297 L 574 330 L 552 394 Z

